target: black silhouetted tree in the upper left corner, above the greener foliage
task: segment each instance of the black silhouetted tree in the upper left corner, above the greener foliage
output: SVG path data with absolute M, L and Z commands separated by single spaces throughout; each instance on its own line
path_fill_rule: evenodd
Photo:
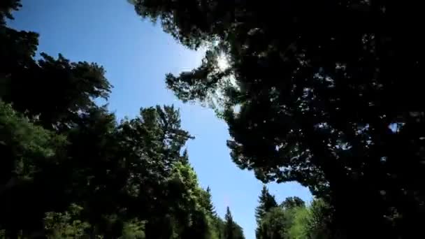
M 8 0 L 0 6 L 12 17 L 20 1 Z M 0 25 L 0 99 L 50 129 L 69 128 L 79 115 L 96 108 L 96 99 L 108 99 L 112 87 L 104 69 L 96 63 L 71 62 L 59 54 L 57 59 L 41 53 L 36 60 L 38 34 L 16 31 Z M 12 94 L 13 92 L 13 94 Z

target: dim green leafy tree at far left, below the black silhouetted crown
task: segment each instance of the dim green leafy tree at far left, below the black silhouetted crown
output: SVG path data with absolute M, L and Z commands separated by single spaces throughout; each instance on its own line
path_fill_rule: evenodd
M 50 176 L 66 143 L 0 101 L 0 228 L 6 237 L 42 226 L 43 212 L 52 206 L 44 190 L 52 184 L 45 179 L 55 180 Z

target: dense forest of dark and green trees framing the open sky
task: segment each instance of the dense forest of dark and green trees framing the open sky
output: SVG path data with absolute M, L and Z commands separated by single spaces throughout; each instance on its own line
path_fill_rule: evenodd
M 296 181 L 314 195 L 279 203 L 264 186 L 257 239 L 424 235 L 424 37 L 394 31 L 420 22 L 421 8 L 129 3 L 187 48 L 206 49 L 198 68 L 165 80 L 178 99 L 226 122 L 233 162 L 264 183 Z M 244 238 L 231 210 L 220 218 L 210 188 L 200 187 L 178 109 L 141 108 L 118 121 L 99 104 L 112 90 L 104 69 L 36 58 L 38 34 L 6 24 L 20 7 L 0 3 L 0 238 Z

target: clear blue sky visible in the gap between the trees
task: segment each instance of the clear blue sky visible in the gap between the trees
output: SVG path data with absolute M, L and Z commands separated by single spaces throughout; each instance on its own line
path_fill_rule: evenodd
M 212 110 L 182 104 L 166 89 L 164 75 L 190 70 L 201 52 L 179 45 L 159 25 L 143 21 L 126 0 L 23 0 L 10 26 L 41 34 L 39 50 L 62 53 L 73 61 L 95 61 L 106 69 L 114 85 L 110 110 L 118 117 L 134 117 L 141 107 L 174 104 L 182 126 L 196 137 L 188 144 L 189 157 L 203 187 L 212 190 L 219 215 L 229 205 L 247 239 L 254 239 L 254 208 L 261 182 L 241 171 L 229 157 L 226 124 Z M 308 189 L 296 183 L 269 184 L 279 201 L 299 196 L 310 201 Z

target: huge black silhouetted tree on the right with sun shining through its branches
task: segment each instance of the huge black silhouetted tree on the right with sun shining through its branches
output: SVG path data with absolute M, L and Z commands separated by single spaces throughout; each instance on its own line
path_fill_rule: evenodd
M 370 32 L 408 25 L 419 22 L 419 6 L 345 0 L 133 3 L 139 15 L 161 22 L 183 45 L 207 46 L 199 68 L 168 74 L 166 82 L 182 101 L 219 106 L 240 168 L 264 182 L 296 180 L 309 187 L 335 208 L 334 221 L 349 238 L 365 237 L 364 231 L 389 238 L 420 233 L 425 108 L 416 79 L 422 77 L 423 36 L 291 33 L 300 27 Z M 217 66 L 220 55 L 229 68 Z

